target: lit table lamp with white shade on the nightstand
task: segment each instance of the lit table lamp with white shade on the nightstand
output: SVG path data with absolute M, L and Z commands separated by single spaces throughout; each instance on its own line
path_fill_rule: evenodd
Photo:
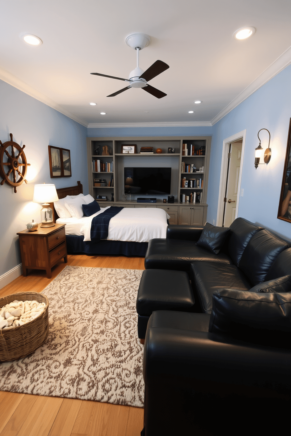
M 54 227 L 52 208 L 49 203 L 58 201 L 58 194 L 54 184 L 34 185 L 33 200 L 34 203 L 42 203 L 41 209 L 41 226 Z

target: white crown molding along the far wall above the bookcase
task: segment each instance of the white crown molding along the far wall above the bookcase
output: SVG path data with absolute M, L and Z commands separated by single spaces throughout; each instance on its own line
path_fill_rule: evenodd
M 109 127 L 211 127 L 209 121 L 165 121 L 161 123 L 89 123 L 88 129 Z

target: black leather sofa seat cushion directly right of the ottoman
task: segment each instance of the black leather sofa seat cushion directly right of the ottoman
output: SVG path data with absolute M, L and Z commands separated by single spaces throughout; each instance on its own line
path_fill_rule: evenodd
M 190 270 L 193 289 L 195 288 L 204 312 L 212 309 L 212 295 L 221 288 L 249 290 L 252 285 L 235 265 L 218 262 L 192 262 Z

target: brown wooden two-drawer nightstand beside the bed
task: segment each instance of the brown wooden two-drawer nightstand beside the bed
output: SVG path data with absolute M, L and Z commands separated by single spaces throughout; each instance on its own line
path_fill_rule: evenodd
M 60 259 L 68 262 L 65 224 L 55 227 L 38 227 L 35 232 L 22 230 L 18 232 L 21 251 L 23 275 L 27 269 L 45 269 L 48 279 L 51 278 L 51 267 Z

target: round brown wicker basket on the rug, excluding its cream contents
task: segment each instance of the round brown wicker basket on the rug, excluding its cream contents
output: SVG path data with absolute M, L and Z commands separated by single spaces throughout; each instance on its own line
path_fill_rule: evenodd
M 20 292 L 0 298 L 0 308 L 14 300 L 45 303 L 45 310 L 22 326 L 0 330 L 0 362 L 20 359 L 36 350 L 48 336 L 48 298 L 37 292 Z

